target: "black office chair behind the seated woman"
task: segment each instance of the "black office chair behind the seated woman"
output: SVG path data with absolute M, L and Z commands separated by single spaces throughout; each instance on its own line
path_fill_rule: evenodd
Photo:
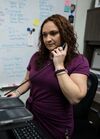
M 88 76 L 88 90 L 80 103 L 73 106 L 75 127 L 72 139 L 97 139 L 95 128 L 89 122 L 89 111 L 93 103 L 98 86 L 98 78 L 90 72 Z

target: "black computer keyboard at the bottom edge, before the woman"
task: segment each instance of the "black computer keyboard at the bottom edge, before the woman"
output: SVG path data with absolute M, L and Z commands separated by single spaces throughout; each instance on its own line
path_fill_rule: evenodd
M 26 121 L 24 127 L 14 128 L 13 134 L 16 139 L 51 139 L 47 133 L 44 133 L 43 130 L 31 120 Z

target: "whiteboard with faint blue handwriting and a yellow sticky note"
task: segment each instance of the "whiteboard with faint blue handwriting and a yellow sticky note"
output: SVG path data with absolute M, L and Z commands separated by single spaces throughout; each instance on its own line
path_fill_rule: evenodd
M 0 0 L 0 88 L 18 85 L 38 50 L 41 23 L 64 12 L 65 0 Z M 37 22 L 38 19 L 38 22 Z M 29 36 L 27 28 L 35 28 Z

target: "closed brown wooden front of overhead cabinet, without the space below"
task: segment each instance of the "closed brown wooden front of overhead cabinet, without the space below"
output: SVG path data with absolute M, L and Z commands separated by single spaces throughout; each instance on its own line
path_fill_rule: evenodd
M 85 41 L 100 41 L 100 8 L 87 11 Z

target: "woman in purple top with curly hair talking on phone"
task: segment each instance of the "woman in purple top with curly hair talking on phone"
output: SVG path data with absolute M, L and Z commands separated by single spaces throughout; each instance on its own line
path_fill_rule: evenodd
M 27 67 L 24 81 L 30 81 L 8 95 L 20 96 L 30 89 L 26 106 L 33 120 L 52 139 L 64 139 L 72 135 L 73 104 L 86 95 L 88 74 L 88 61 L 77 51 L 73 27 L 65 17 L 52 15 L 41 26 L 39 51 Z

